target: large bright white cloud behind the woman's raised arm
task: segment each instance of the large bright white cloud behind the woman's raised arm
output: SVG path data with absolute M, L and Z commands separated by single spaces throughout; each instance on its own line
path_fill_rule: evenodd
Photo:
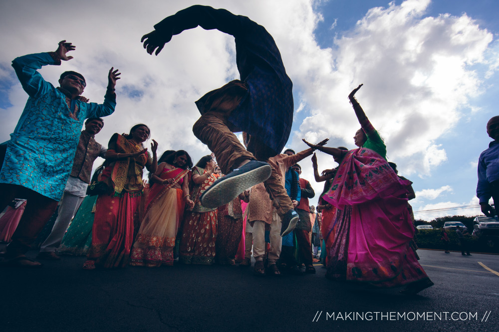
M 485 64 L 493 36 L 466 14 L 425 17 L 429 0 L 391 2 L 371 8 L 356 27 L 335 40 L 334 68 L 312 68 L 312 82 L 300 84 L 312 115 L 301 124 L 301 137 L 322 130 L 338 144 L 353 148 L 359 127 L 347 96 L 357 93 L 367 116 L 384 137 L 387 155 L 405 173 L 428 176 L 447 160 L 436 143 L 458 120 L 473 111 L 470 98 L 483 78 L 470 65 Z M 475 110 L 476 111 L 476 110 Z

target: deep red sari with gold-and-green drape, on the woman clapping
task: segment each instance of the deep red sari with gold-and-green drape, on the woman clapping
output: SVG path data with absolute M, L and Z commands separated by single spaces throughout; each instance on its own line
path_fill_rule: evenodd
M 109 140 L 108 148 L 116 153 L 142 150 L 141 146 L 117 133 Z M 141 154 L 112 162 L 102 172 L 101 181 L 113 188 L 113 192 L 99 195 L 95 206 L 92 245 L 87 256 L 95 261 L 96 266 L 112 268 L 128 264 L 133 242 L 133 217 L 144 189 L 143 169 L 151 163 L 148 155 Z

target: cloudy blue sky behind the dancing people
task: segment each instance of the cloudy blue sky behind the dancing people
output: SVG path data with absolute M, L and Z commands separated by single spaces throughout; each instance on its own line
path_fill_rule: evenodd
M 478 204 L 476 163 L 499 104 L 498 4 L 492 0 L 2 1 L 0 27 L 9 33 L 0 36 L 8 45 L 0 50 L 0 140 L 8 139 L 27 98 L 11 60 L 55 50 L 66 39 L 76 45 L 74 59 L 41 69 L 47 81 L 76 70 L 87 80 L 83 95 L 100 102 L 107 70 L 122 72 L 118 107 L 99 142 L 144 122 L 160 151 L 185 149 L 194 160 L 208 154 L 191 131 L 199 117 L 193 102 L 238 78 L 233 38 L 197 28 L 174 37 L 158 57 L 140 44 L 155 23 L 195 3 L 249 16 L 273 35 L 293 81 L 287 147 L 299 151 L 303 137 L 329 137 L 331 146 L 354 148 L 359 125 L 347 95 L 363 83 L 358 100 L 385 138 L 389 160 L 414 182 L 414 211 Z M 326 155 L 318 159 L 319 168 L 335 166 Z M 311 162 L 300 164 L 302 177 L 320 192 Z

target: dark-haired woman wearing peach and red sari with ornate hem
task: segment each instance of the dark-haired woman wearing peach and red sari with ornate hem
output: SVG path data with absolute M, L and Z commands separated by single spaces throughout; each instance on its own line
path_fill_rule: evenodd
M 194 206 L 189 195 L 188 173 L 193 166 L 189 154 L 184 150 L 163 154 L 159 162 L 151 176 L 145 217 L 133 244 L 130 265 L 172 266 L 179 221 L 186 203 Z

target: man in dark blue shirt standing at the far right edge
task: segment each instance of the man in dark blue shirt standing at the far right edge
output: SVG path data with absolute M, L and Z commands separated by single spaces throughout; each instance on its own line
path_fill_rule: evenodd
M 494 217 L 496 212 L 489 205 L 489 200 L 492 197 L 495 206 L 499 203 L 499 116 L 487 122 L 487 133 L 494 141 L 478 160 L 477 197 L 484 215 Z

